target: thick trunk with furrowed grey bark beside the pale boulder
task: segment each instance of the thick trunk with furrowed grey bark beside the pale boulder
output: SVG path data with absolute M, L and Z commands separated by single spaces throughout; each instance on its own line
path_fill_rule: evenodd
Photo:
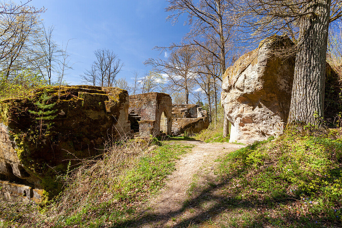
M 331 0 L 312 1 L 301 18 L 288 123 L 320 125 L 324 118 L 326 53 Z

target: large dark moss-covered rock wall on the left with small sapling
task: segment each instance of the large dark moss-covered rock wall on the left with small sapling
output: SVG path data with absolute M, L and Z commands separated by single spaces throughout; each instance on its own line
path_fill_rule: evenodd
M 100 153 L 105 141 L 133 135 L 126 90 L 68 86 L 61 87 L 59 99 L 58 90 L 46 87 L 29 98 L 0 101 L 0 179 L 14 181 L 3 182 L 3 189 L 22 191 L 15 194 L 25 199 L 39 201 L 58 193 L 56 178 L 69 162 L 75 167 L 78 159 Z M 48 104 L 55 103 L 51 110 L 56 112 L 41 127 L 39 115 L 29 111 L 40 111 L 34 103 L 44 91 L 52 96 Z

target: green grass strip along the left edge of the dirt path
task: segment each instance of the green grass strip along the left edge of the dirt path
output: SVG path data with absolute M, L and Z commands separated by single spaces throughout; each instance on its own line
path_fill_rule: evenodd
M 132 169 L 127 169 L 118 178 L 114 186 L 113 198 L 96 207 L 89 205 L 85 216 L 83 211 L 77 215 L 64 218 L 55 227 L 84 224 L 84 227 L 95 225 L 102 227 L 108 224 L 122 224 L 136 216 L 136 204 L 147 199 L 147 195 L 158 191 L 165 183 L 166 177 L 175 169 L 175 160 L 184 154 L 186 149 L 180 145 L 162 145 L 152 154 L 138 157 Z M 120 203 L 117 203 L 120 202 Z M 111 210 L 115 208 L 115 210 Z M 95 214 L 94 214 L 95 213 Z M 94 218 L 98 221 L 94 223 Z M 69 221 L 69 222 L 65 222 Z

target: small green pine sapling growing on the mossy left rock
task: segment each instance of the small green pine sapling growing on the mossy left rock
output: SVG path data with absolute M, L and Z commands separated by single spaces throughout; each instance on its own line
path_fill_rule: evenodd
M 52 110 L 56 103 L 48 104 L 48 101 L 52 98 L 52 96 L 48 96 L 47 92 L 45 91 L 43 95 L 40 97 L 40 101 L 35 102 L 34 104 L 37 107 L 37 111 L 28 110 L 29 113 L 38 115 L 36 119 L 39 121 L 39 139 L 45 135 L 51 125 L 54 123 L 52 120 L 57 116 L 53 115 L 57 110 Z M 43 134 L 43 127 L 46 126 L 45 133 Z

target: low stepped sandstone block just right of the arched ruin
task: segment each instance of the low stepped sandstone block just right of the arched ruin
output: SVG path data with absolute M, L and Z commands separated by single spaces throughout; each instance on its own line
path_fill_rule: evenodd
M 207 129 L 209 118 L 206 110 L 198 104 L 174 104 L 172 107 L 172 134 L 178 136 L 185 131 L 190 134 Z

